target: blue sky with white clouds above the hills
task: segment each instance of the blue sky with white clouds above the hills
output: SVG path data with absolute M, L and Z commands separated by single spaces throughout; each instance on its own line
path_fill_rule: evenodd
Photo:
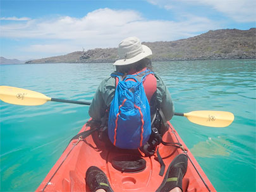
M 0 56 L 40 59 L 74 51 L 256 27 L 255 0 L 0 0 Z

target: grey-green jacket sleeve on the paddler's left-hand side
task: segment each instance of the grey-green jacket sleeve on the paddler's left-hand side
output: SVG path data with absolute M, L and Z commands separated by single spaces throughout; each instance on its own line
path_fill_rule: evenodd
M 104 117 L 107 107 L 109 107 L 114 97 L 115 83 L 115 79 L 109 77 L 103 80 L 97 88 L 88 111 L 92 119 L 101 121 L 102 117 Z

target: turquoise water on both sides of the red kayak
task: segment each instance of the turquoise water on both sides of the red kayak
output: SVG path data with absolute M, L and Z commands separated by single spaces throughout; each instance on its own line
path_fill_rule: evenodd
M 168 86 L 176 112 L 235 114 L 227 128 L 204 127 L 176 116 L 171 123 L 217 191 L 255 191 L 256 61 L 177 61 L 153 66 Z M 102 78 L 113 70 L 112 64 L 2 65 L 0 84 L 90 101 Z M 2 101 L 0 106 L 0 191 L 34 191 L 88 120 L 88 106 L 57 102 L 21 106 Z

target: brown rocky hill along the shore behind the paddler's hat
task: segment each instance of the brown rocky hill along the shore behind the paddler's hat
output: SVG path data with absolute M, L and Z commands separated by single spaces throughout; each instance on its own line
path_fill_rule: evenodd
M 188 39 L 143 42 L 152 49 L 152 61 L 203 59 L 255 59 L 256 28 L 250 30 L 210 30 Z M 76 51 L 27 63 L 107 63 L 118 59 L 117 48 Z

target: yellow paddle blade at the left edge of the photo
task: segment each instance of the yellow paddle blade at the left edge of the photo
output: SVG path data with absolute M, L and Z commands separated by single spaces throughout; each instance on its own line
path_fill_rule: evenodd
M 24 88 L 0 86 L 0 99 L 15 105 L 42 105 L 51 100 L 46 95 Z

